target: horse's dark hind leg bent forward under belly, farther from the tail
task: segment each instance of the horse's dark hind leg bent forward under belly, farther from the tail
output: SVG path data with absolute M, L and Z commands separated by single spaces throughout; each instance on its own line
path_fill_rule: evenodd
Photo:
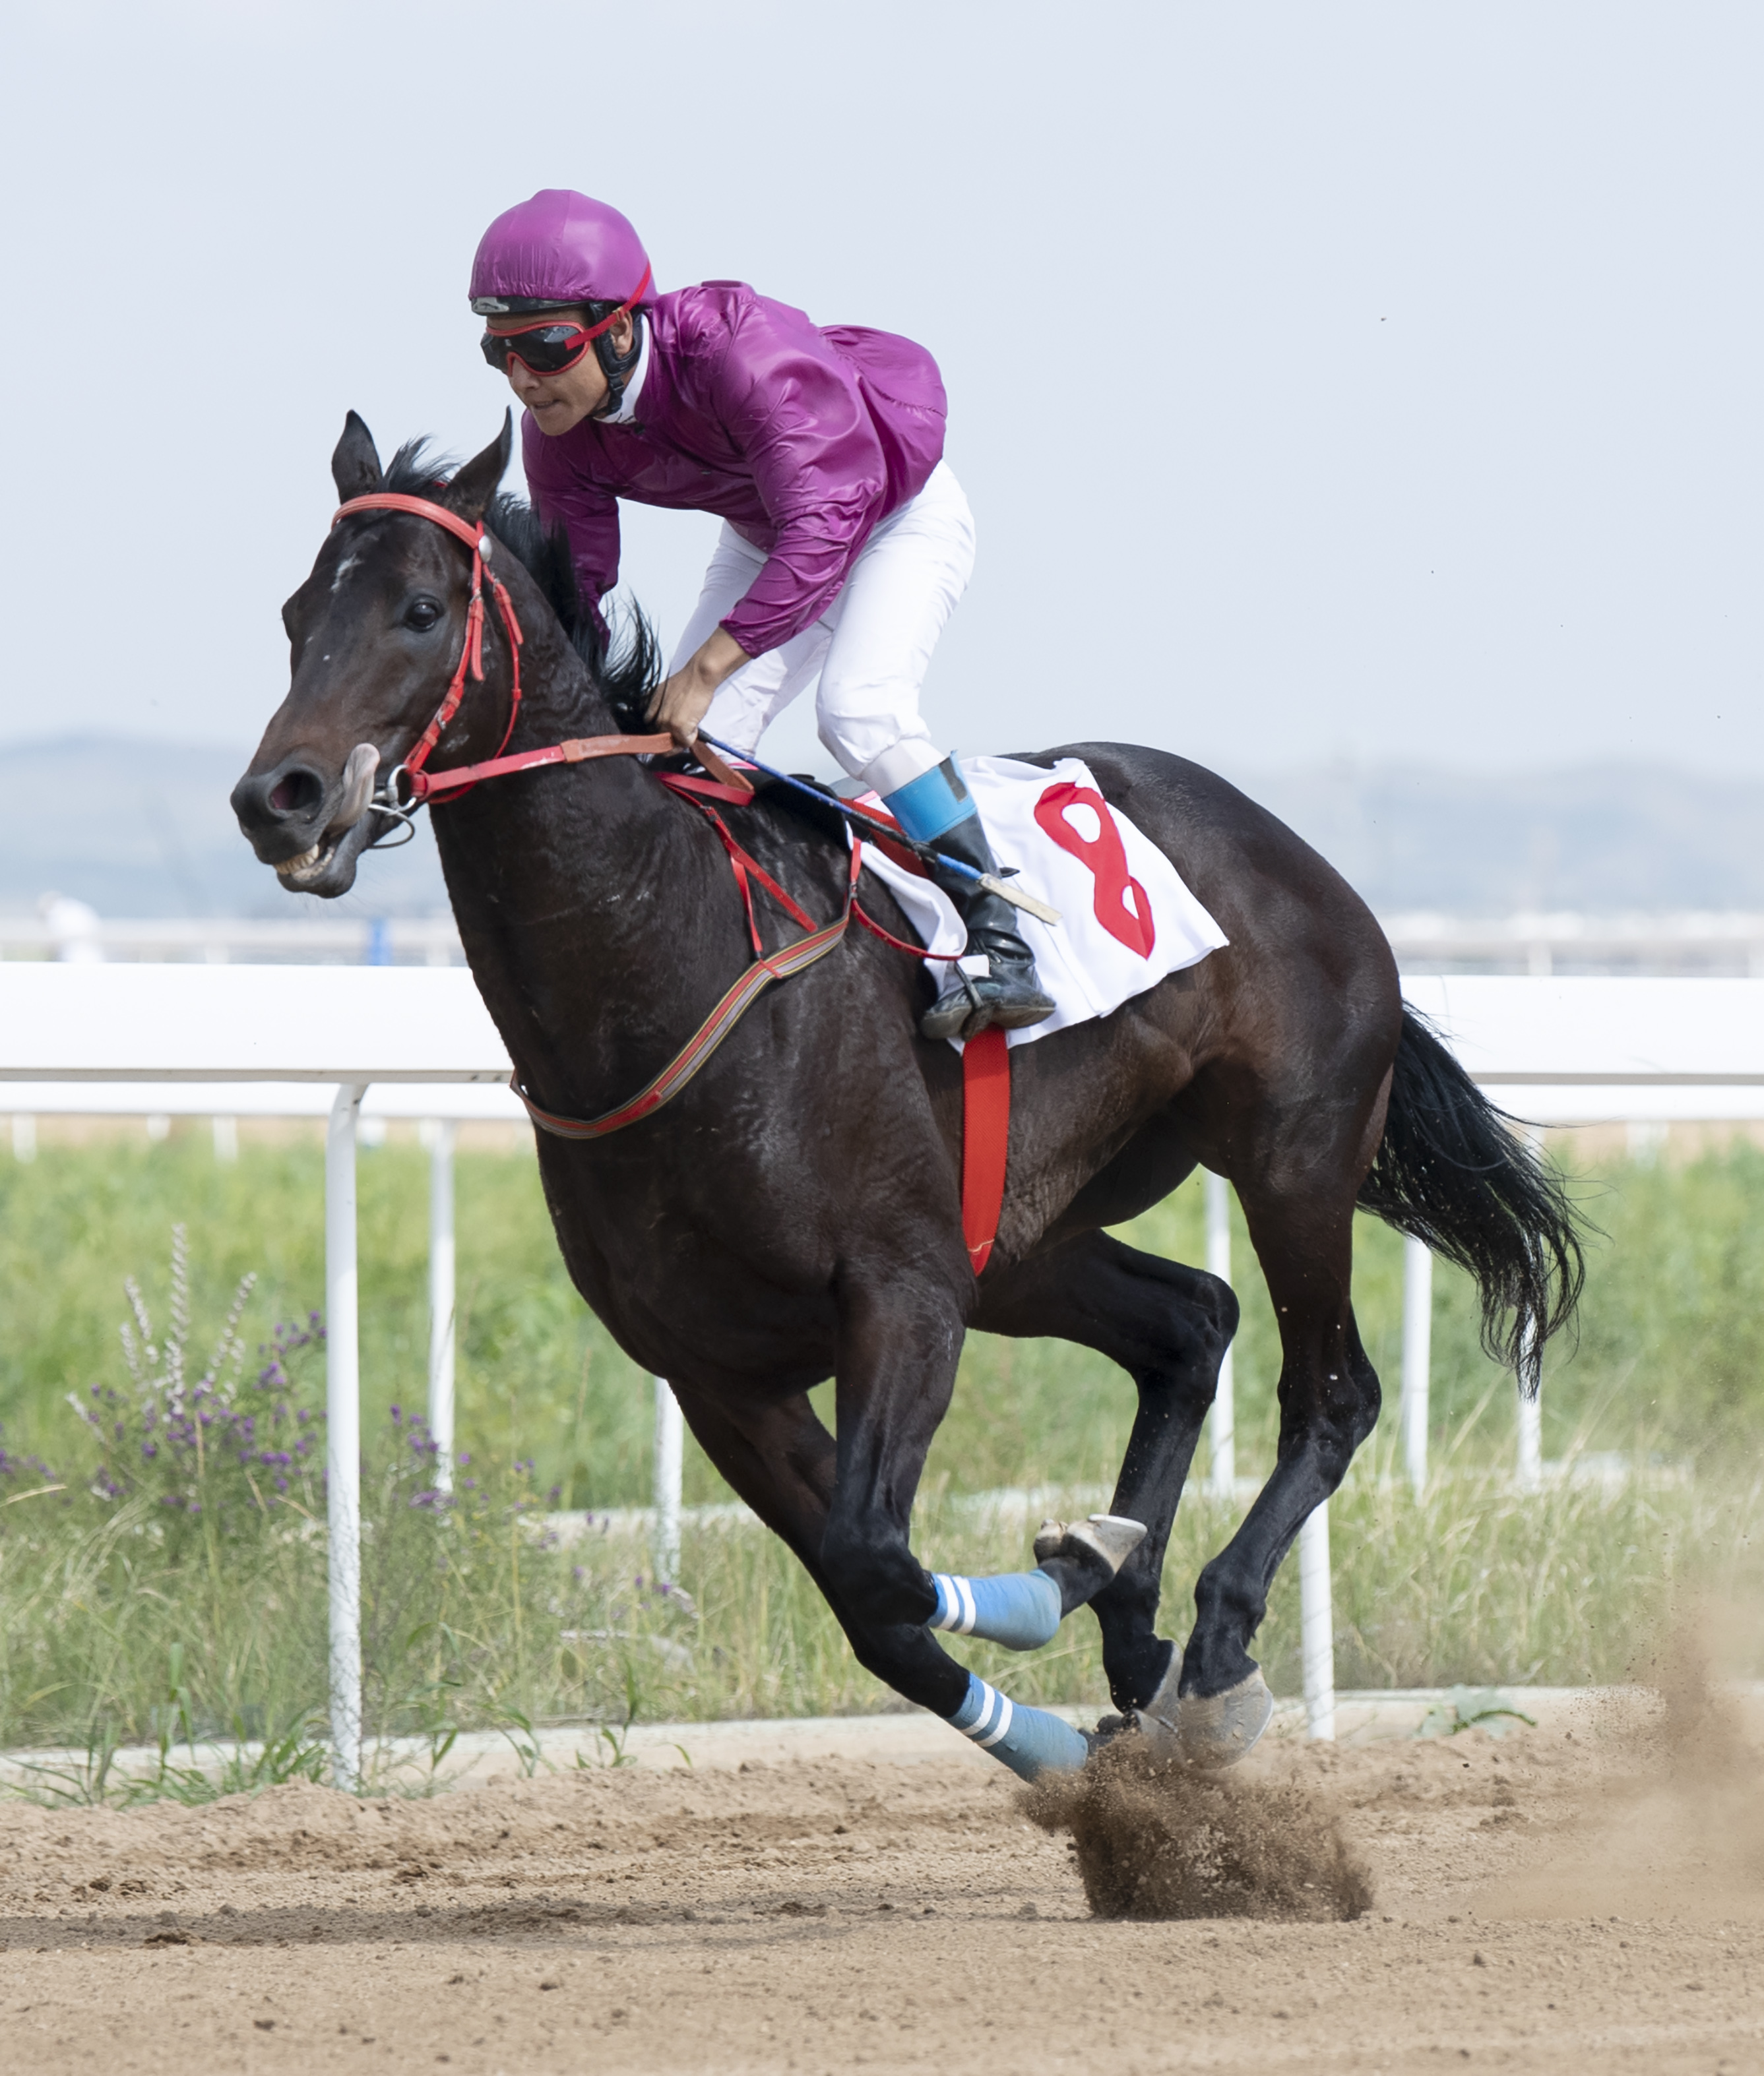
M 1085 1233 L 987 1285 L 974 1327 L 1095 1347 L 1139 1387 L 1112 1509 L 1145 1522 L 1147 1534 L 1091 1607 L 1116 1706 L 1145 1709 L 1176 1657 L 1157 1634 L 1164 1549 L 1236 1333 L 1236 1298 L 1199 1268 Z

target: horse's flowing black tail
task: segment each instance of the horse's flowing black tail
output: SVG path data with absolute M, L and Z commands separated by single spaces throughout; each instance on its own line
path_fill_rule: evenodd
M 1481 1345 L 1531 1397 L 1544 1343 L 1573 1318 L 1585 1258 L 1562 1183 L 1427 1021 L 1402 1009 L 1390 1113 L 1359 1202 L 1481 1291 Z

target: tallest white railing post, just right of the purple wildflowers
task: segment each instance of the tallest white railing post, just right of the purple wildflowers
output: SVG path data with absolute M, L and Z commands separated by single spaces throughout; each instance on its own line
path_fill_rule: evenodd
M 355 1119 L 345 1082 L 324 1133 L 324 1484 L 330 1572 L 330 1779 L 362 1785 L 362 1333 L 355 1266 Z

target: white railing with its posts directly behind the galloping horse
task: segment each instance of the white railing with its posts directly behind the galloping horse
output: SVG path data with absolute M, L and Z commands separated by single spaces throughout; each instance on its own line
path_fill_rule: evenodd
M 1764 1115 L 1764 980 L 1409 978 L 1471 1075 L 1535 1123 Z M 326 1312 L 330 1435 L 330 1723 L 341 1785 L 359 1781 L 359 1339 L 355 1329 L 355 1138 L 364 1102 L 447 1119 L 513 1111 L 509 1061 L 461 967 L 314 967 L 297 980 L 253 965 L 0 963 L 0 1107 L 195 1107 L 326 1111 Z M 440 1158 L 443 1136 L 432 1136 Z M 451 1190 L 432 1173 L 430 1410 L 451 1457 Z M 1230 1279 L 1226 1194 L 1207 1192 L 1207 1264 Z M 1405 1462 L 1427 1482 L 1432 1262 L 1407 1248 Z M 447 1322 L 447 1324 L 443 1324 Z M 447 1391 L 443 1397 L 443 1376 Z M 1213 1482 L 1232 1470 L 1232 1401 L 1213 1414 Z M 679 1410 L 657 1385 L 657 1563 L 679 1538 Z M 1519 1474 L 1540 1476 L 1535 1410 L 1521 1414 Z M 1301 1630 L 1311 1733 L 1334 1733 L 1328 1513 L 1301 1534 Z

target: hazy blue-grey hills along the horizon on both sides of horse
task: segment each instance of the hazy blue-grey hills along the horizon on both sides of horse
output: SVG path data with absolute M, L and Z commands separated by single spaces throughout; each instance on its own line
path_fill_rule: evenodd
M 60 737 L 0 745 L 0 907 L 56 891 L 100 916 L 287 916 L 233 822 L 245 749 Z M 1380 911 L 1764 909 L 1764 781 L 1671 768 L 1498 774 L 1328 766 L 1228 774 Z M 447 907 L 434 843 L 366 862 L 347 907 Z

